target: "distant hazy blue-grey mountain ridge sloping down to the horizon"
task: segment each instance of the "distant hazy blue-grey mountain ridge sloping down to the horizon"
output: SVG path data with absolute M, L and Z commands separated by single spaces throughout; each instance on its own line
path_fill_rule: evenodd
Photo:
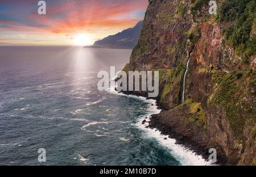
M 141 35 L 143 21 L 136 24 L 135 27 L 125 29 L 115 35 L 105 37 L 96 41 L 92 47 L 94 48 L 115 48 L 115 49 L 133 49 L 137 45 L 139 36 Z

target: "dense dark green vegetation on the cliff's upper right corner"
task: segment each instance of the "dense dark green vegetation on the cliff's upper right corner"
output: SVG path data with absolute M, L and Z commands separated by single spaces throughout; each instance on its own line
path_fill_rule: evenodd
M 255 55 L 256 2 L 255 0 L 226 0 L 218 14 L 219 22 L 232 22 L 224 30 L 226 43 L 243 55 L 243 62 Z

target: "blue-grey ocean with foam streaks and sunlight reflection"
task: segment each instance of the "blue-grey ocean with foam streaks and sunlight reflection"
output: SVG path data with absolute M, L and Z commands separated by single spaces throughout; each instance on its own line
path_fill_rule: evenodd
M 142 125 L 160 112 L 154 100 L 98 91 L 98 71 L 121 70 L 130 54 L 0 47 L 0 165 L 209 165 Z

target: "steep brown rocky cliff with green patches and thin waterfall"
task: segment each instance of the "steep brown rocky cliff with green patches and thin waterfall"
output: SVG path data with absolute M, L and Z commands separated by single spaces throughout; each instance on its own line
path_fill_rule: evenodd
M 217 1 L 217 15 L 209 15 L 208 3 L 150 1 L 124 70 L 159 71 L 165 111 L 151 127 L 205 157 L 216 148 L 220 163 L 256 165 L 256 3 Z

